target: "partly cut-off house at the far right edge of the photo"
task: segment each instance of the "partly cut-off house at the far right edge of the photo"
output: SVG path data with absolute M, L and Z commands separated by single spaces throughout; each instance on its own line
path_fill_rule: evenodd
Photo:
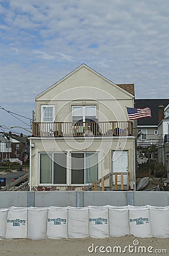
M 159 111 L 159 162 L 162 162 L 164 164 L 164 166 L 166 167 L 166 171 L 169 171 L 169 104 L 167 106 L 161 105 Z

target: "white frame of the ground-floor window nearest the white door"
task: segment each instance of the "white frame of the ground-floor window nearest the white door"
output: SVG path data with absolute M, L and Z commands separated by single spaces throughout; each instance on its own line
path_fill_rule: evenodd
M 70 186 L 80 186 L 80 187 L 82 187 L 82 186 L 84 186 L 84 185 L 89 185 L 89 184 L 91 184 L 91 183 L 86 183 L 86 161 L 85 161 L 85 155 L 86 155 L 86 153 L 96 153 L 96 154 L 98 154 L 98 179 L 99 179 L 99 152 L 98 151 L 86 151 L 86 152 L 84 152 L 84 151 L 82 151 L 82 152 L 70 152 L 70 159 L 72 159 L 71 158 L 71 154 L 84 154 L 84 184 L 71 184 L 71 163 L 70 163 Z M 71 161 L 70 161 L 71 162 Z

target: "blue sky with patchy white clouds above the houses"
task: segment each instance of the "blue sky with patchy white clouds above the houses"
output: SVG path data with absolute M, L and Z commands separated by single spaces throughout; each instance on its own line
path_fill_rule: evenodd
M 136 98 L 169 98 L 168 24 L 168 0 L 0 0 L 0 106 L 32 118 L 35 97 L 82 63 Z M 0 109 L 0 131 L 30 128 L 14 116 Z

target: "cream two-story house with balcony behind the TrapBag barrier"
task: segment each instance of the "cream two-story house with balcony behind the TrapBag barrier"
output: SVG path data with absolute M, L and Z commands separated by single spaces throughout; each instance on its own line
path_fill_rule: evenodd
M 84 189 L 109 173 L 113 184 L 134 189 L 135 137 L 126 114 L 134 84 L 116 85 L 82 64 L 35 101 L 31 189 Z

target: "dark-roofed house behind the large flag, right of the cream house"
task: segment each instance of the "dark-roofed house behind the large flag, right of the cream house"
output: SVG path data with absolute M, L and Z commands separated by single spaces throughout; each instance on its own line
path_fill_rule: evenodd
M 137 120 L 137 162 L 146 163 L 158 160 L 158 145 L 160 131 L 158 124 L 161 121 L 161 106 L 165 108 L 169 99 L 135 99 L 136 108 L 149 107 L 151 117 Z M 162 110 L 163 111 L 163 110 Z

